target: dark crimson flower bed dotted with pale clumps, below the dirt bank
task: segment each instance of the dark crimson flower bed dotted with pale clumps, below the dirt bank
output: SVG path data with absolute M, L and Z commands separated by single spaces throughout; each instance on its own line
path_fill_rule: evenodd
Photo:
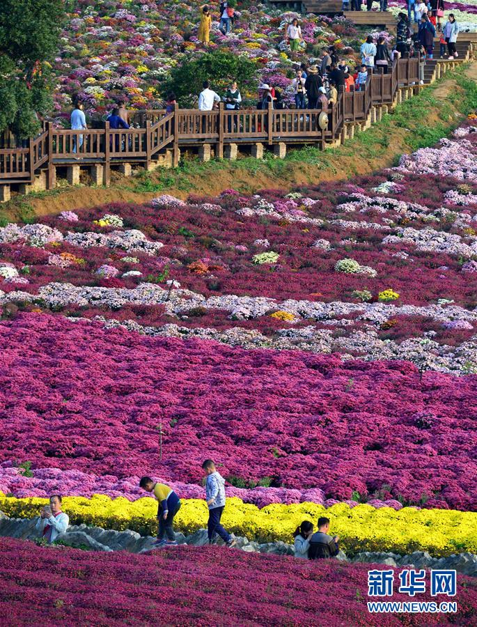
M 475 133 L 477 135 L 477 133 Z M 127 203 L 114 203 L 107 207 L 79 212 L 77 222 L 65 222 L 60 217 L 49 217 L 45 224 L 54 226 L 67 235 L 73 233 L 111 233 L 117 227 L 100 227 L 93 224 L 105 212 L 120 215 L 124 228 L 142 231 L 148 240 L 164 244 L 156 256 L 132 253 L 139 263 L 123 261 L 131 254 L 124 249 L 107 247 L 80 248 L 68 242 L 46 244 L 44 248 L 26 245 L 21 240 L 1 245 L 0 262 L 13 263 L 19 272 L 28 266 L 22 277 L 28 284 L 15 284 L 0 281 L 3 291 L 22 289 L 36 293 L 39 286 L 52 281 L 68 282 L 74 285 L 102 285 L 134 288 L 139 281 L 160 281 L 166 278 L 179 281 L 182 288 L 188 288 L 205 296 L 220 294 L 267 296 L 279 299 L 295 298 L 329 302 L 355 302 L 353 292 L 368 289 L 373 297 L 380 291 L 392 288 L 400 294 L 400 304 L 428 304 L 438 299 L 452 299 L 463 307 L 474 307 L 475 291 L 469 274 L 462 272 L 465 258 L 455 246 L 449 244 L 444 251 L 419 251 L 407 241 L 397 240 L 383 243 L 386 235 L 392 235 L 398 228 L 412 228 L 417 231 L 432 227 L 447 235 L 460 238 L 462 244 L 471 244 L 475 239 L 470 235 L 477 229 L 477 204 L 465 207 L 452 206 L 446 202 L 445 192 L 455 187 L 450 180 L 439 180 L 434 176 L 410 176 L 399 184 L 399 192 L 378 194 L 372 187 L 383 181 L 383 176 L 364 178 L 362 187 L 327 183 L 317 188 L 300 191 L 311 200 L 306 208 L 306 219 L 324 220 L 321 226 L 307 222 L 290 222 L 287 219 L 262 216 L 246 217 L 237 215 L 235 210 L 244 205 L 256 205 L 256 199 L 242 196 L 223 196 L 212 199 L 217 211 L 204 210 L 203 203 L 176 206 L 169 203 L 155 206 L 131 206 Z M 366 192 L 377 199 L 375 208 L 361 212 L 356 202 Z M 290 203 L 299 206 L 300 200 L 283 198 L 283 192 L 266 190 L 263 199 L 276 210 L 284 209 Z M 403 217 L 386 206 L 386 199 L 417 203 L 428 213 L 436 212 L 444 204 L 448 211 L 469 215 L 467 231 L 464 224 L 453 226 L 449 220 L 425 222 L 416 217 Z M 210 199 L 191 198 L 194 203 Z M 313 203 L 313 201 L 315 201 Z M 209 205 L 211 204 L 209 203 Z M 341 207 L 345 206 L 343 210 Z M 291 210 L 293 211 L 293 210 Z M 357 229 L 343 226 L 333 221 L 364 222 Z M 386 222 L 387 220 L 387 222 Z M 392 228 L 388 222 L 393 224 Z M 382 228 L 371 228 L 375 224 Z M 474 226 L 474 229 L 472 228 Z M 386 230 L 387 229 L 387 230 Z M 477 232 L 477 231 L 476 231 Z M 267 248 L 256 242 L 269 242 Z M 327 240 L 331 249 L 313 246 L 316 240 Z M 252 259 L 263 251 L 279 254 L 276 263 L 257 265 Z M 67 253 L 79 258 L 81 263 L 71 263 L 62 267 L 54 261 L 58 255 Z M 407 254 L 405 258 L 396 254 Z M 343 258 L 352 257 L 360 265 L 376 271 L 375 277 L 367 274 L 343 274 L 334 266 Z M 107 265 L 116 268 L 114 278 L 98 273 Z M 141 276 L 122 275 L 138 271 Z M 163 276 L 166 272 L 167 276 Z M 134 318 L 134 314 L 132 314 Z M 157 317 L 156 317 L 157 319 Z

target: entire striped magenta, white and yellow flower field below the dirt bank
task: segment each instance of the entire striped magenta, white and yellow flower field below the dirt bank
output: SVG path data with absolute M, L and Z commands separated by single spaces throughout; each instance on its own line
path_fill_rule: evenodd
M 60 492 L 74 524 L 153 534 L 155 502 L 138 487 L 152 474 L 182 498 L 178 530 L 195 532 L 212 457 L 237 535 L 290 543 L 299 522 L 325 514 L 348 555 L 477 552 L 476 156 L 469 121 L 352 183 L 164 194 L 0 226 L 0 510 L 31 518 Z M 237 597 L 219 560 L 260 580 L 230 609 L 243 624 L 283 624 L 290 607 L 294 624 L 310 612 L 335 624 L 311 594 L 323 578 L 345 624 L 396 622 L 368 617 L 356 564 L 181 549 L 121 557 L 118 575 L 117 557 L 49 550 L 55 572 L 80 583 L 45 597 L 43 552 L 1 543 L 19 557 L 1 566 L 0 617 L 22 594 L 32 616 L 53 603 L 59 621 L 81 621 L 84 577 L 112 578 L 119 607 L 104 595 L 93 605 L 114 624 L 137 568 L 143 598 L 160 586 L 166 603 L 164 564 L 179 588 L 193 577 L 215 602 Z M 307 603 L 294 594 L 272 607 L 276 578 L 311 586 Z M 459 581 L 456 620 L 471 624 L 474 583 Z M 177 612 L 181 624 L 205 615 L 190 596 Z

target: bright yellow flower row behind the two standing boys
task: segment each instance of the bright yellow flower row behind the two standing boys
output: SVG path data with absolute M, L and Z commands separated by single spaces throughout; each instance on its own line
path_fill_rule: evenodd
M 38 516 L 46 499 L 6 497 L 0 493 L 0 511 L 10 517 Z M 64 497 L 63 511 L 77 525 L 96 525 L 109 529 L 134 529 L 155 535 L 157 503 L 150 497 L 130 502 L 125 498 L 111 500 L 105 495 Z M 272 504 L 258 509 L 237 498 L 227 500 L 222 521 L 237 535 L 262 542 L 292 542 L 292 533 L 303 520 L 316 525 L 320 516 L 331 520 L 331 532 L 341 537 L 342 548 L 353 554 L 359 551 L 393 551 L 400 554 L 425 550 L 436 557 L 455 552 L 477 552 L 477 513 L 445 509 L 389 507 L 375 509 L 370 505 L 350 508 L 338 504 L 325 509 L 315 503 Z M 207 505 L 203 500 L 182 500 L 175 517 L 175 528 L 191 534 L 207 524 Z

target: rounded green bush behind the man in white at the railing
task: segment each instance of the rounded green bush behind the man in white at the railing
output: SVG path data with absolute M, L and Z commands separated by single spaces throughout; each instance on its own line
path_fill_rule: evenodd
M 230 82 L 235 80 L 243 98 L 244 92 L 256 89 L 257 67 L 242 54 L 225 50 L 206 52 L 194 61 L 185 61 L 180 67 L 173 68 L 166 90 L 175 93 L 182 107 L 193 107 L 205 80 L 210 81 L 210 87 L 219 95 L 223 95 Z

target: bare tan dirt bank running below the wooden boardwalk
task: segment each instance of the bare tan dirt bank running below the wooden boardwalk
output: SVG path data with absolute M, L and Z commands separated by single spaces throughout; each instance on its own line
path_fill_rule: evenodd
M 464 72 L 469 79 L 477 79 L 477 62 L 471 63 Z M 449 104 L 448 97 L 460 90 L 455 78 L 450 74 L 432 91 L 437 104 L 430 107 L 425 115 L 425 126 L 432 127 L 442 123 L 442 107 Z M 462 116 L 460 116 L 462 118 Z M 458 122 L 458 117 L 455 116 Z M 450 122 L 450 120 L 448 120 Z M 169 185 L 164 185 L 164 171 L 150 175 L 150 183 L 162 184 L 161 191 L 136 192 L 134 179 L 122 178 L 114 173 L 111 187 L 63 187 L 54 192 L 16 196 L 10 203 L 0 206 L 0 213 L 8 219 L 18 219 L 25 211 L 34 215 L 54 214 L 65 210 L 89 208 L 111 202 L 141 203 L 161 194 L 168 193 L 185 199 L 190 193 L 214 196 L 228 187 L 250 194 L 259 189 L 290 189 L 300 184 L 316 184 L 326 180 L 340 180 L 368 174 L 383 167 L 390 167 L 396 157 L 411 150 L 409 139 L 412 128 L 405 128 L 393 122 L 393 116 L 387 125 L 377 124 L 366 131 L 366 140 L 347 142 L 334 150 L 325 150 L 315 163 L 307 163 L 292 158 L 283 162 L 280 169 L 259 167 L 251 169 L 241 166 L 240 160 L 217 167 L 217 164 L 203 164 L 203 167 L 191 167 L 183 177 L 171 176 Z M 195 171 L 194 171 L 195 170 Z M 199 171 L 200 170 L 200 171 Z

